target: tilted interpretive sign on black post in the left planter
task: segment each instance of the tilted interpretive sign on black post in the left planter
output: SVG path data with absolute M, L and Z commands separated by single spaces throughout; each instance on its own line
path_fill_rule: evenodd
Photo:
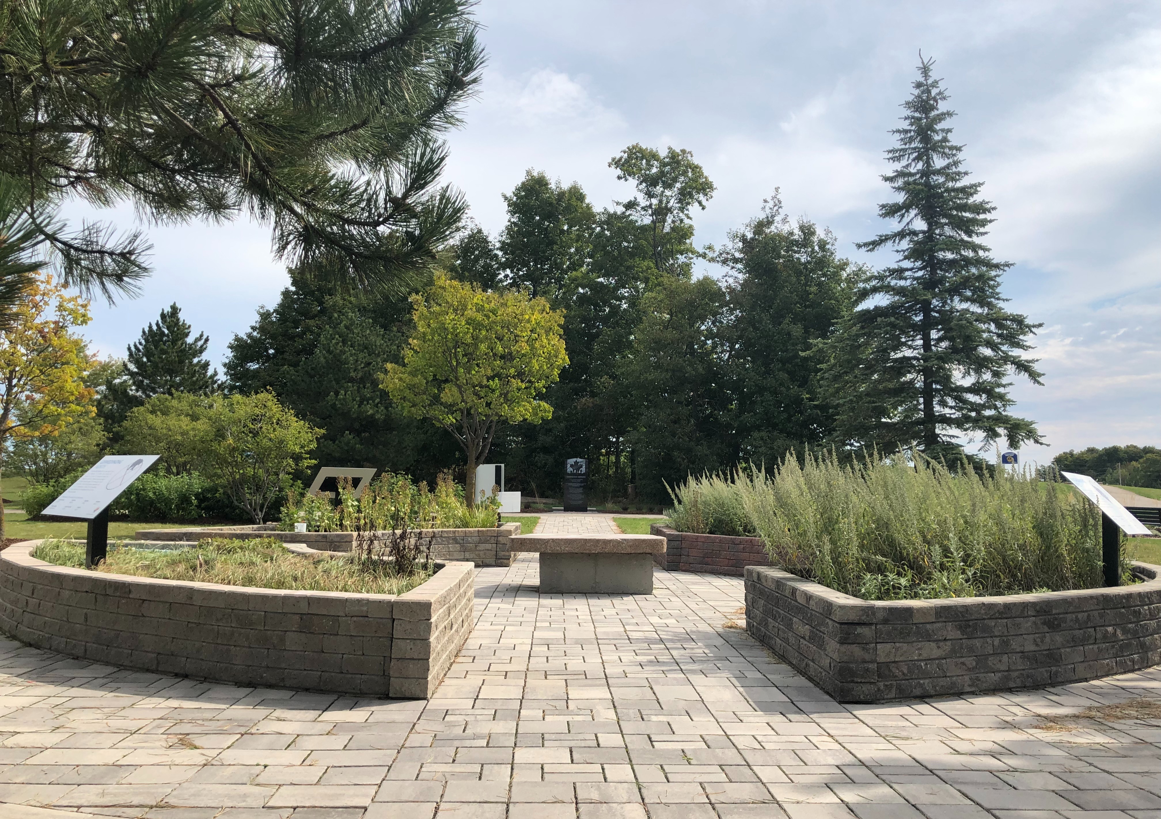
M 42 515 L 88 521 L 85 568 L 92 568 L 109 551 L 109 503 L 137 480 L 159 455 L 106 455 L 60 495 Z

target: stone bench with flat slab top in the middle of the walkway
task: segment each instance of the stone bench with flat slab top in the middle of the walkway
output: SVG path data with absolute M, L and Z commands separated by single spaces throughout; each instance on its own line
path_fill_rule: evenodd
M 518 535 L 512 552 L 540 555 L 540 590 L 547 594 L 652 594 L 657 535 Z

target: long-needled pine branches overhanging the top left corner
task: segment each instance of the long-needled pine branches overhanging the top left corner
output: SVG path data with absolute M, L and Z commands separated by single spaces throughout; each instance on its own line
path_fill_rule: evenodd
M 280 258 L 406 292 L 464 211 L 440 137 L 479 79 L 473 5 L 0 0 L 0 186 L 23 203 L 0 229 L 24 219 L 65 284 L 111 296 L 147 242 L 71 229 L 67 197 L 158 223 L 248 213 Z

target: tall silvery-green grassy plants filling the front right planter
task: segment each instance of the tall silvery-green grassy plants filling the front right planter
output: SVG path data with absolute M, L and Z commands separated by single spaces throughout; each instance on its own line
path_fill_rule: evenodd
M 864 600 L 1102 585 L 1099 512 L 1027 472 L 808 454 L 734 483 L 771 563 Z

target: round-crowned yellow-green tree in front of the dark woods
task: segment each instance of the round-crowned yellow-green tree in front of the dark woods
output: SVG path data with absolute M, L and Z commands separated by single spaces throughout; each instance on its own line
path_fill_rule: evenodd
M 476 465 L 488 457 L 500 421 L 540 423 L 553 407 L 540 400 L 569 363 L 562 311 L 522 292 L 482 292 L 444 275 L 411 297 L 414 333 L 402 364 L 388 364 L 383 387 L 413 418 L 455 436 L 468 457 L 464 481 L 474 505 Z

